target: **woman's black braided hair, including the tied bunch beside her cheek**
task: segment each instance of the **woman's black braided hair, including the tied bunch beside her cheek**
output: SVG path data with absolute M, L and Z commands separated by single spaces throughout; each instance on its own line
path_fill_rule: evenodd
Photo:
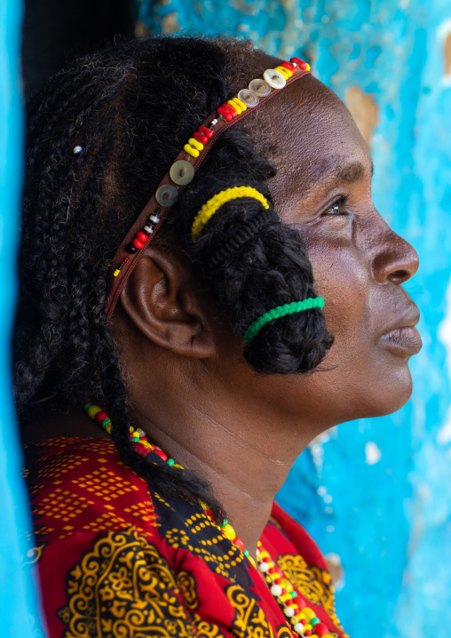
M 233 39 L 130 40 L 85 56 L 51 78 L 28 109 L 20 299 L 14 388 L 20 419 L 62 414 L 91 396 L 112 419 L 123 462 L 162 494 L 202 498 L 209 486 L 186 470 L 155 466 L 129 440 L 127 393 L 106 326 L 107 271 L 117 246 L 202 120 L 249 83 L 255 55 Z M 263 70 L 263 69 L 262 69 Z M 75 146 L 82 152 L 74 154 Z M 299 233 L 273 206 L 236 199 L 191 236 L 212 195 L 256 187 L 271 204 L 275 170 L 252 132 L 224 132 L 171 209 L 155 242 L 190 256 L 200 280 L 243 334 L 269 309 L 314 297 Z M 313 371 L 332 337 L 315 308 L 266 325 L 243 348 L 261 373 Z

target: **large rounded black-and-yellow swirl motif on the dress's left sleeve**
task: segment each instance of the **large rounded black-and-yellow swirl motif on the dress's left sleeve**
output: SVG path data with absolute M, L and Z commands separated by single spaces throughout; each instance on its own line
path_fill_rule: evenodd
M 193 605 L 194 584 L 187 606 Z M 186 572 L 178 580 L 155 546 L 130 528 L 109 532 L 67 578 L 67 606 L 59 618 L 63 638 L 193 636 L 182 601 Z

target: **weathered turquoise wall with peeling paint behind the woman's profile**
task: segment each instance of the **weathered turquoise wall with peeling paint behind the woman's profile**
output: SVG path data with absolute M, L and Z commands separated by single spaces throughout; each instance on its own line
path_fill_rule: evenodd
M 352 108 L 376 163 L 379 210 L 422 262 L 415 393 L 344 424 L 298 460 L 280 501 L 338 554 L 353 638 L 448 638 L 451 626 L 451 3 L 142 0 L 138 32 L 233 33 L 301 54 Z M 383 374 L 384 371 L 381 371 Z

